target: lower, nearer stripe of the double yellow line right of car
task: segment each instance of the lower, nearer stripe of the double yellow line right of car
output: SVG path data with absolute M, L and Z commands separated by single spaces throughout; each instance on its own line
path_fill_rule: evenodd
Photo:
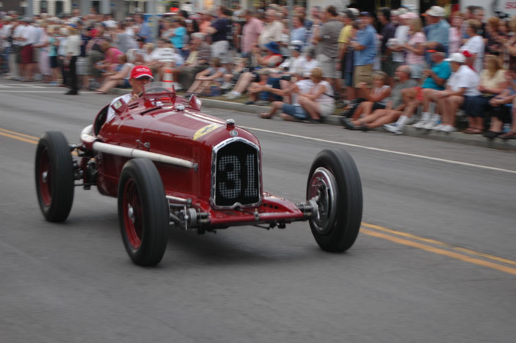
M 458 252 L 444 250 L 441 248 L 436 248 L 434 246 L 427 246 L 425 244 L 417 243 L 416 241 L 409 241 L 408 239 L 403 239 L 403 238 L 399 238 L 399 237 L 386 235 L 384 233 L 379 233 L 377 231 L 369 230 L 367 228 L 362 228 L 362 230 L 360 230 L 360 231 L 366 235 L 378 237 L 378 238 L 382 238 L 382 239 L 387 239 L 388 241 L 393 241 L 397 244 L 403 244 L 404 246 L 411 246 L 412 248 L 418 248 L 418 249 L 425 250 L 428 252 L 433 252 L 434 254 L 444 255 L 447 257 L 451 257 L 453 259 L 458 259 L 460 261 L 465 261 L 465 262 L 473 263 L 476 265 L 482 265 L 483 267 L 500 270 L 501 272 L 506 272 L 508 274 L 516 275 L 516 268 L 511 268 L 511 267 L 507 267 L 505 265 L 500 265 L 497 263 L 484 261 L 483 259 L 477 259 L 476 257 L 469 257 L 466 255 L 459 254 Z

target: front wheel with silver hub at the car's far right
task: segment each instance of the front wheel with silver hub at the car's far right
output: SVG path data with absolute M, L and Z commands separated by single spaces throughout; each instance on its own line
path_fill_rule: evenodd
M 351 248 L 362 222 L 362 182 L 350 154 L 341 149 L 319 152 L 310 168 L 307 200 L 317 191 L 319 211 L 309 220 L 317 244 L 329 252 Z

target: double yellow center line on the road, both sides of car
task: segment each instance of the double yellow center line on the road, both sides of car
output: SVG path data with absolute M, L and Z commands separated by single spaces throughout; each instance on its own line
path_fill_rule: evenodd
M 38 144 L 38 137 L 6 130 L 4 128 L 0 128 L 0 135 L 26 143 Z M 425 250 L 427 252 L 433 252 L 437 255 L 451 257 L 452 259 L 458 259 L 460 261 L 482 265 L 482 267 L 499 270 L 500 272 L 505 272 L 507 274 L 516 275 L 516 261 L 505 259 L 504 257 L 497 257 L 495 255 L 485 254 L 484 252 L 478 252 L 475 250 L 462 248 L 460 246 L 453 246 L 451 244 L 437 241 L 435 239 L 419 237 L 417 235 L 412 235 L 412 233 L 392 230 L 392 228 L 386 228 L 384 226 L 375 224 L 368 224 L 366 222 L 362 222 L 360 233 L 386 239 L 388 241 L 392 241 L 393 243 L 402 244 L 404 246 Z

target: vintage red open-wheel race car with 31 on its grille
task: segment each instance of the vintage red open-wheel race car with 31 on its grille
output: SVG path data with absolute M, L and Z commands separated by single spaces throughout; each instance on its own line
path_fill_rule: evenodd
M 36 150 L 36 190 L 49 222 L 67 219 L 76 186 L 118 198 L 121 236 L 137 265 L 156 265 L 169 226 L 198 233 L 238 225 L 285 228 L 308 221 L 323 250 L 350 248 L 362 220 L 362 185 L 344 150 L 322 150 L 310 168 L 306 201 L 263 191 L 258 139 L 200 112 L 195 95 L 159 82 L 119 99 L 82 130 L 80 145 L 45 132 Z

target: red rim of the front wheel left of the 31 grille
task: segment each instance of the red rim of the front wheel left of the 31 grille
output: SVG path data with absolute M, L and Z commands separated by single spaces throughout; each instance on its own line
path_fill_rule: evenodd
M 143 213 L 140 196 L 134 180 L 129 179 L 124 187 L 124 226 L 129 244 L 133 249 L 141 246 Z

